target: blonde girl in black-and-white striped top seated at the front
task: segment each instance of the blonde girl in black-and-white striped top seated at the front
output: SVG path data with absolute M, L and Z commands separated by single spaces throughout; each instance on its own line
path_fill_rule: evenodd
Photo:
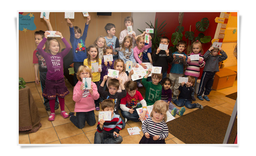
M 154 103 L 150 117 L 141 126 L 144 135 L 139 144 L 165 144 L 165 138 L 168 137 L 167 110 L 168 104 L 165 101 Z

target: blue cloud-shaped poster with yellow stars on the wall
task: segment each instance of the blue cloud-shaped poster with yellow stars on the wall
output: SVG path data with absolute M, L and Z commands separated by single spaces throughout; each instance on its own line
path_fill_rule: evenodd
M 36 30 L 36 25 L 34 23 L 34 15 L 29 13 L 27 15 L 19 14 L 19 30 L 27 31 L 27 30 Z

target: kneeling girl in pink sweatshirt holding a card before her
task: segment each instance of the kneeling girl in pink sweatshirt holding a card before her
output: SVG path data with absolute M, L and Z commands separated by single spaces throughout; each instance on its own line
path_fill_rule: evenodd
M 91 89 L 85 89 L 83 78 L 92 78 L 91 69 L 88 66 L 80 66 L 77 70 L 77 79 L 79 80 L 73 90 L 73 100 L 75 101 L 75 112 L 70 112 L 70 121 L 77 126 L 77 128 L 84 128 L 85 122 L 93 126 L 95 120 L 95 103 L 100 94 L 98 93 L 97 85 L 94 82 L 88 84 Z

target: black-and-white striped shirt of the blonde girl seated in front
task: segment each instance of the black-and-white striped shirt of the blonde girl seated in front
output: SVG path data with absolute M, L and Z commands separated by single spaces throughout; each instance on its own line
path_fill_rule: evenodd
M 159 135 L 160 137 L 158 140 L 162 140 L 168 137 L 168 127 L 165 121 L 156 123 L 152 121 L 152 117 L 149 117 L 143 122 L 141 129 L 143 134 L 148 132 L 150 136 Z

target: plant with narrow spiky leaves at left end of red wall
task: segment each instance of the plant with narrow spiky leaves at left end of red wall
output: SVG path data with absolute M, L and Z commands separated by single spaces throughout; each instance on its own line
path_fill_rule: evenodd
M 152 37 L 152 40 L 151 40 L 152 51 L 154 52 L 160 44 L 161 37 L 165 36 L 165 28 L 164 27 L 167 23 L 165 23 L 165 21 L 163 21 L 159 25 L 159 27 L 158 27 L 158 19 L 156 19 L 156 21 L 155 21 L 155 26 L 151 23 L 151 21 L 150 21 L 150 24 L 147 22 L 145 22 L 145 23 L 149 26 L 149 28 L 154 29 L 154 34 L 152 34 L 152 36 L 151 36 Z M 138 30 L 141 32 L 141 34 L 143 33 L 143 31 L 145 31 L 145 30 L 140 30 L 140 29 L 138 29 Z

